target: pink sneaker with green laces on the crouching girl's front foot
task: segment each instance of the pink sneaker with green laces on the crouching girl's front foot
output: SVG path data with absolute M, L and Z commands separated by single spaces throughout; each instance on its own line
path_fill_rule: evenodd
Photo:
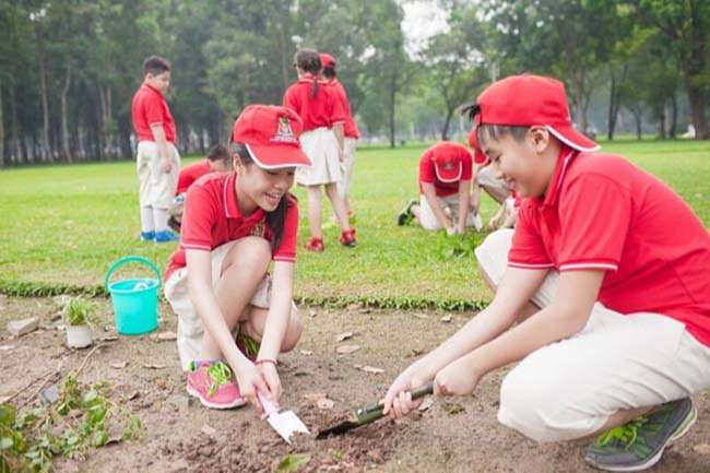
M 224 362 L 190 363 L 186 389 L 211 409 L 233 409 L 247 403 L 232 380 L 232 369 Z

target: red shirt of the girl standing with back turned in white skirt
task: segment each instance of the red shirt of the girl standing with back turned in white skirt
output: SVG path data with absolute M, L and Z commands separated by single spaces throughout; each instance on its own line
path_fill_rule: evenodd
M 328 82 L 318 82 L 313 97 L 313 76 L 306 75 L 296 81 L 284 94 L 284 107 L 296 111 L 304 122 L 304 131 L 315 130 L 345 121 L 345 110 Z

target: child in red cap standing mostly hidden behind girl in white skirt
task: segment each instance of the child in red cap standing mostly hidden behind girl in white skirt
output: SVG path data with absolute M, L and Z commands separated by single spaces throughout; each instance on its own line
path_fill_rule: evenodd
M 345 111 L 345 122 L 343 125 L 343 176 L 338 181 L 338 193 L 343 199 L 345 203 L 345 209 L 347 214 L 352 216 L 353 211 L 350 206 L 350 184 L 353 179 L 353 166 L 355 165 L 355 147 L 357 144 L 357 139 L 359 138 L 359 130 L 357 129 L 357 123 L 353 118 L 353 114 L 350 109 L 350 100 L 347 98 L 347 92 L 345 87 L 338 80 L 338 74 L 335 72 L 335 58 L 326 52 L 320 52 L 320 61 L 323 69 L 321 70 L 321 75 L 335 91 L 335 95 L 340 100 L 343 110 Z

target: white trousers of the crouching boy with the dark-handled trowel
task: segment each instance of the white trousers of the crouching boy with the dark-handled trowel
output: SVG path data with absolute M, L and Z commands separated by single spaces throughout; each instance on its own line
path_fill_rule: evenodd
M 475 250 L 496 285 L 512 234 L 494 232 Z M 551 271 L 533 303 L 552 304 L 558 282 L 559 273 Z M 599 431 L 620 410 L 708 388 L 710 347 L 683 323 L 660 314 L 622 315 L 596 303 L 582 331 L 531 353 L 506 376 L 498 421 L 537 441 L 571 440 Z

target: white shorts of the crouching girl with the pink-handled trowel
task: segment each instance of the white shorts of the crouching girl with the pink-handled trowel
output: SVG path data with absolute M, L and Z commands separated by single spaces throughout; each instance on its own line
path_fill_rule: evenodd
M 216 287 L 222 276 L 222 262 L 235 244 L 236 240 L 229 241 L 212 250 L 213 288 Z M 170 274 L 170 277 L 165 282 L 165 298 L 170 303 L 173 311 L 178 316 L 178 353 L 180 355 L 180 366 L 182 369 L 186 369 L 190 362 L 198 359 L 202 348 L 202 335 L 204 333 L 202 319 L 198 316 L 198 312 L 194 310 L 194 305 L 190 299 L 187 268 L 180 268 Z M 257 292 L 251 298 L 250 306 L 246 310 L 250 310 L 252 307 L 268 309 L 270 300 L 271 277 L 267 274 L 261 283 L 259 283 Z M 238 324 L 235 327 L 235 336 L 237 330 Z

